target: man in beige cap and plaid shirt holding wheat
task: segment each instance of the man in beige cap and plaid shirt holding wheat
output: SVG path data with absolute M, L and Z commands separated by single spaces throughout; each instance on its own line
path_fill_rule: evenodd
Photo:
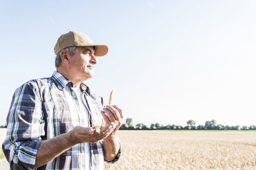
M 54 50 L 52 77 L 26 82 L 12 98 L 2 146 L 10 169 L 104 169 L 104 160 L 120 157 L 116 131 L 122 110 L 103 107 L 103 99 L 83 81 L 93 77 L 96 56 L 104 56 L 108 47 L 68 32 Z M 102 123 L 100 131 L 92 128 Z

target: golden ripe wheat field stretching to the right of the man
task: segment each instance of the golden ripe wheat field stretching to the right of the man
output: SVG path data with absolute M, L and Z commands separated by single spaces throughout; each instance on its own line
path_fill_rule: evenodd
M 122 156 L 105 169 L 256 169 L 255 131 L 118 132 Z

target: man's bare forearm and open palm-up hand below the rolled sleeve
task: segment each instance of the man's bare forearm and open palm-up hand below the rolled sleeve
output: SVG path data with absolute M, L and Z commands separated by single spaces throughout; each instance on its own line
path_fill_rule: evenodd
M 41 167 L 77 143 L 97 143 L 117 127 L 118 121 L 107 123 L 96 132 L 92 127 L 76 126 L 70 132 L 42 141 L 36 154 L 35 167 Z

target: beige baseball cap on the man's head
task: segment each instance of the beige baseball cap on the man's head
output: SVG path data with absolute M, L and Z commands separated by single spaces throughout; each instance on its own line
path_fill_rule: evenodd
M 94 44 L 91 38 L 83 32 L 68 32 L 58 38 L 54 47 L 54 52 L 57 55 L 61 49 L 67 47 L 95 47 L 95 56 L 105 56 L 109 48 L 107 45 Z

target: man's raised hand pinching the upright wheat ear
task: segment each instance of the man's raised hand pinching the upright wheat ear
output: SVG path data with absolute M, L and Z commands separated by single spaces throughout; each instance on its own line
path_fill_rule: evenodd
M 122 110 L 118 108 L 116 105 L 107 105 L 103 110 L 101 110 L 101 114 L 103 115 L 103 119 L 105 123 L 111 123 L 111 122 L 118 122 L 118 125 L 115 127 L 114 131 L 111 133 L 111 135 L 115 135 L 116 131 L 119 129 L 119 127 L 122 125 L 123 117 L 122 117 Z M 111 136 L 110 135 L 110 136 Z

